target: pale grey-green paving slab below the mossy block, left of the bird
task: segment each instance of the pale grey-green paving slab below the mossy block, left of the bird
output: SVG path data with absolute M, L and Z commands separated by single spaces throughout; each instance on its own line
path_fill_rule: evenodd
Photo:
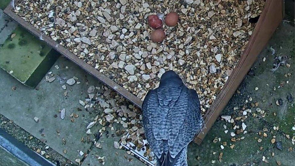
M 30 132 L 39 139 L 46 139 L 46 144 L 64 155 L 71 161 L 76 158 L 82 159 L 79 151 L 84 153 L 90 148 L 87 143 L 87 137 L 92 140 L 93 135 L 86 135 L 86 126 L 94 119 L 96 114 L 92 112 L 78 111 L 82 106 L 79 99 L 87 93 L 87 83 L 99 86 L 100 83 L 93 77 L 89 77 L 83 70 L 64 58 L 60 58 L 55 65 L 60 68 L 57 70 L 52 67 L 54 80 L 52 83 L 41 80 L 36 89 L 28 88 L 18 83 L 10 75 L 0 70 L 1 82 L 0 89 L 0 113 L 8 119 L 13 120 L 17 125 Z M 66 69 L 66 66 L 69 68 Z M 66 90 L 61 87 L 65 85 L 66 80 L 76 76 L 81 84 L 73 86 L 67 85 L 67 96 L 64 96 Z M 89 78 L 87 78 L 89 77 Z M 16 90 L 12 90 L 12 87 Z M 66 109 L 65 119 L 60 118 L 59 110 Z M 83 109 L 84 110 L 84 109 Z M 76 113 L 79 115 L 75 122 L 71 122 L 70 115 Z M 57 115 L 55 118 L 54 116 Z M 36 123 L 34 117 L 38 117 Z M 60 135 L 58 135 L 59 130 Z M 66 144 L 62 139 L 66 139 Z M 85 142 L 81 142 L 84 138 Z M 66 150 L 66 154 L 64 154 Z

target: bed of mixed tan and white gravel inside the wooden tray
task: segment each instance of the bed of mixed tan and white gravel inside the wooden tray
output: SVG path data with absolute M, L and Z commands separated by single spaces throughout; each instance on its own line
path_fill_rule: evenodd
M 144 99 L 161 75 L 174 70 L 197 91 L 203 114 L 245 49 L 262 0 L 141 1 L 23 0 L 15 12 L 80 59 Z M 153 43 L 149 15 L 180 16 Z

